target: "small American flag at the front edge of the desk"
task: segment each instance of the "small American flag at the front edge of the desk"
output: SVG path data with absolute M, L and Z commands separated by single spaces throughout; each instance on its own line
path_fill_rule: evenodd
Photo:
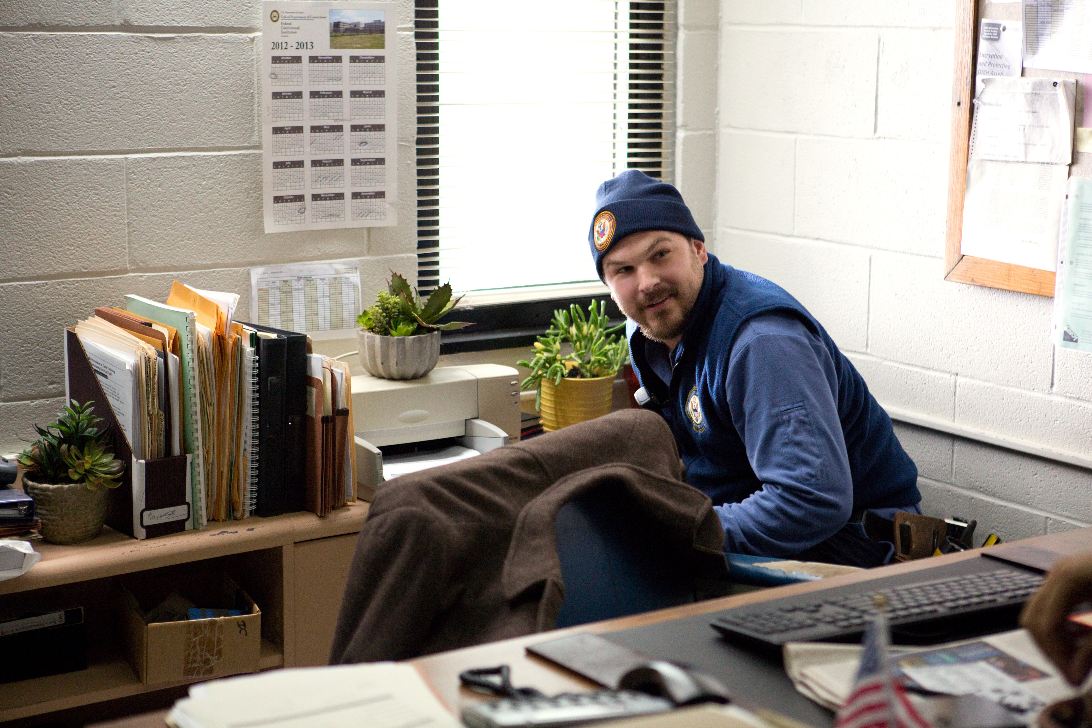
M 887 618 L 880 611 L 865 631 L 857 680 L 834 728 L 930 728 L 891 675 L 889 641 Z

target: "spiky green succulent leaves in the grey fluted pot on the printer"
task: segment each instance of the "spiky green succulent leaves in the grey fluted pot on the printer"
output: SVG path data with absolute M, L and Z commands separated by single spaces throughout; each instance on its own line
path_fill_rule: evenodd
M 448 311 L 455 307 L 462 296 L 451 299 L 451 284 L 446 283 L 422 303 L 417 289 L 403 276 L 391 271 L 387 290 L 376 296 L 376 305 L 357 317 L 356 323 L 364 330 L 381 336 L 413 336 L 418 327 L 430 331 L 454 331 L 471 325 L 465 321 L 449 321 L 438 324 Z

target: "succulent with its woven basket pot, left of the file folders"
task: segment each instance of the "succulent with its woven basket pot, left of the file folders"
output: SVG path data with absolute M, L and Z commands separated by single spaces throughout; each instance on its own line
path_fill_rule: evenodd
M 41 537 L 51 544 L 80 544 L 98 535 L 106 521 L 106 489 L 117 488 L 126 464 L 115 460 L 109 430 L 96 427 L 92 403 L 72 405 L 38 433 L 19 455 L 23 490 L 34 499 Z

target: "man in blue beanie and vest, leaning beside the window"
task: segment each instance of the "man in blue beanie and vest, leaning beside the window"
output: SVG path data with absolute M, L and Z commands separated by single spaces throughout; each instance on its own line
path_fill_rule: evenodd
M 795 298 L 705 250 L 670 184 L 629 169 L 600 186 L 587 239 L 628 318 L 646 408 L 713 501 L 725 550 L 855 566 L 894 547 L 860 524 L 921 513 L 891 419 Z

